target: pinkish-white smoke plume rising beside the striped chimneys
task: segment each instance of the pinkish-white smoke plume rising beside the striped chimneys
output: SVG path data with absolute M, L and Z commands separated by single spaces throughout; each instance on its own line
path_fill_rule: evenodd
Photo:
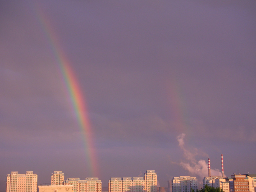
M 195 152 L 191 153 L 185 148 L 185 136 L 186 135 L 184 133 L 177 136 L 179 146 L 183 151 L 183 156 L 186 158 L 186 162 L 181 161 L 178 164 L 187 170 L 191 176 L 196 175 L 200 177 L 200 179 L 203 179 L 208 176 L 208 163 L 203 159 L 200 159 L 199 161 L 196 160 L 195 157 L 198 155 L 198 149 L 195 148 Z M 221 176 L 221 172 L 219 169 L 211 169 L 211 175 Z

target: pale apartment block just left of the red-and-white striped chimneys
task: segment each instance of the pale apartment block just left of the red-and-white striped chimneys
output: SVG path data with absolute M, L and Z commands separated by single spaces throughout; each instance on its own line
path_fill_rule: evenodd
M 191 192 L 197 190 L 198 180 L 196 177 L 180 176 L 172 179 L 172 192 Z

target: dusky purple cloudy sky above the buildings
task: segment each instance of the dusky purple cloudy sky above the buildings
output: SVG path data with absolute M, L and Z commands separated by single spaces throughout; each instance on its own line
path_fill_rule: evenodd
M 201 179 L 220 154 L 227 176 L 256 173 L 256 1 L 1 1 L 1 190 L 11 171 L 95 176 L 39 10 L 86 101 L 103 186 Z

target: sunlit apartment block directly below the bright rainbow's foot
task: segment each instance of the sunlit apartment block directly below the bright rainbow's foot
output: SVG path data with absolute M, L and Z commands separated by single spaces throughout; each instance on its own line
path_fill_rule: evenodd
M 101 192 L 101 180 L 98 178 L 90 177 L 85 180 L 80 178 L 68 178 L 65 185 L 72 185 L 74 192 Z

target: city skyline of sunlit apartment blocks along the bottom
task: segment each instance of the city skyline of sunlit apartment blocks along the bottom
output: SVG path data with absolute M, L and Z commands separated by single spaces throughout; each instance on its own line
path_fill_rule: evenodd
M 200 184 L 200 181 L 198 182 L 196 177 L 191 177 L 188 175 L 173 177 L 172 180 L 168 180 L 168 189 L 170 188 L 169 185 L 172 185 L 172 192 L 189 192 L 192 189 L 196 191 L 199 188 L 205 188 L 207 185 L 208 187 L 221 188 L 224 192 L 243 190 L 251 192 L 255 191 L 256 174 L 239 173 L 236 175 L 234 173 L 234 175 L 231 175 L 231 177 L 224 177 L 223 175 L 224 174 L 222 174 L 222 176 L 212 176 L 209 172 L 208 177 L 204 177 L 203 179 L 203 186 Z M 49 186 L 56 186 L 56 188 L 58 188 L 59 186 L 72 185 L 72 190 L 74 192 L 101 192 L 102 190 L 101 180 L 99 180 L 99 178 L 85 178 L 85 180 L 80 180 L 80 178 L 76 177 L 67 178 L 65 180 L 64 173 L 62 171 L 54 171 L 52 173 L 51 180 L 51 183 L 39 183 L 38 186 L 45 186 L 46 188 L 48 186 L 48 188 L 50 189 L 52 187 Z M 110 180 L 108 180 L 108 192 L 156 192 L 158 187 L 164 188 L 157 183 L 157 174 L 155 170 L 146 170 L 146 172 L 144 173 L 144 177 L 111 177 Z M 33 192 L 36 190 L 36 188 L 37 174 L 33 173 L 33 171 L 27 171 L 26 174 L 11 172 L 11 174 L 7 175 L 7 192 L 24 192 L 27 190 Z

